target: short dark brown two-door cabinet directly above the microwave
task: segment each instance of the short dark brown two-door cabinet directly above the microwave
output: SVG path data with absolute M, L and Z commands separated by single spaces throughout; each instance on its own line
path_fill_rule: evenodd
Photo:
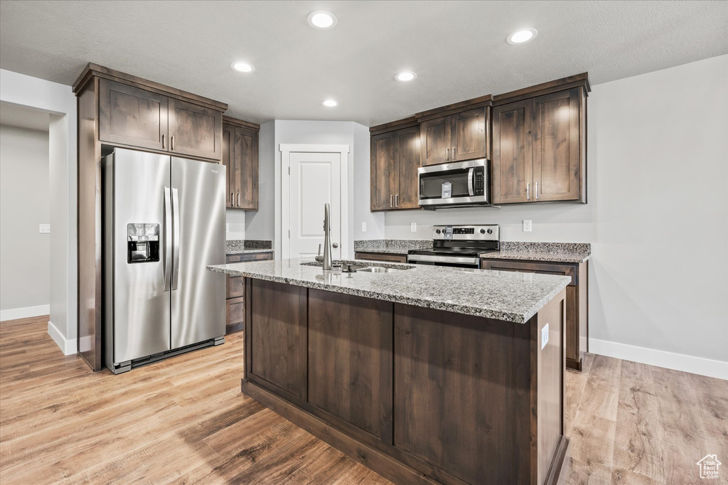
M 422 165 L 487 157 L 489 109 L 484 106 L 423 121 Z

